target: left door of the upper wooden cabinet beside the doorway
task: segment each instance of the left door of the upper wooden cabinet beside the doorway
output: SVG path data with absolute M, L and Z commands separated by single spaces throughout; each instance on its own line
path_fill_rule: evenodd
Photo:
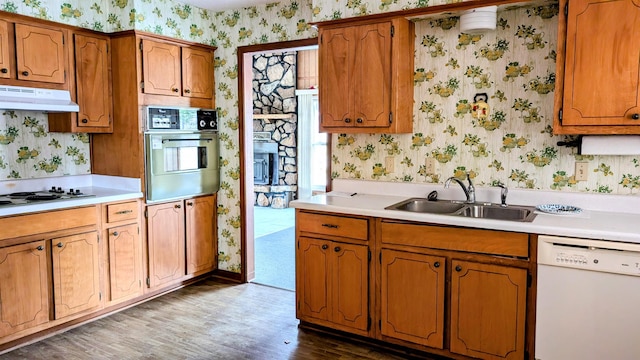
M 320 114 L 323 127 L 355 124 L 351 113 L 355 71 L 355 30 L 353 27 L 324 30 L 320 34 L 319 76 Z

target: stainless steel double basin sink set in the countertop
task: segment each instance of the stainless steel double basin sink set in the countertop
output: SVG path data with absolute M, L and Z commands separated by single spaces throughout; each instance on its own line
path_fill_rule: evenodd
M 387 206 L 385 209 L 520 222 L 531 222 L 536 217 L 535 207 L 531 206 L 501 206 L 489 203 L 468 204 L 460 201 L 434 201 L 425 198 L 410 198 Z

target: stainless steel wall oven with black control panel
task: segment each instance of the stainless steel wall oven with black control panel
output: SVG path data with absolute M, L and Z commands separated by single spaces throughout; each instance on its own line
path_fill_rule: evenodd
M 218 191 L 220 145 L 215 111 L 148 107 L 146 115 L 147 202 Z

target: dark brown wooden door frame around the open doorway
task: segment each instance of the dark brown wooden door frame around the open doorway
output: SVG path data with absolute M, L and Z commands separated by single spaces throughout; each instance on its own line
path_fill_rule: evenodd
M 318 38 L 282 41 L 267 44 L 239 46 L 238 56 L 238 133 L 240 145 L 240 281 L 249 282 L 255 278 L 254 256 L 254 231 L 253 231 L 253 201 L 248 196 L 248 191 L 253 193 L 253 166 L 247 167 L 248 160 L 253 161 L 253 122 L 245 124 L 245 113 L 253 113 L 253 105 L 250 99 L 245 97 L 245 88 L 252 89 L 251 80 L 245 79 L 245 67 L 252 64 L 245 61 L 245 57 L 270 51 L 303 50 L 311 46 L 318 46 Z M 249 67 L 250 69 L 250 67 Z M 248 81 L 248 82 L 247 82 Z M 245 101 L 248 103 L 246 104 Z M 250 131 L 247 131 L 249 129 Z M 330 149 L 330 139 L 327 149 Z M 327 150 L 327 159 L 329 159 Z M 331 174 L 331 166 L 328 162 L 327 176 Z M 329 184 L 329 182 L 327 182 Z M 249 206 L 251 205 L 251 206 Z M 249 226 L 248 224 L 252 224 Z M 251 241 L 249 241 L 251 239 Z

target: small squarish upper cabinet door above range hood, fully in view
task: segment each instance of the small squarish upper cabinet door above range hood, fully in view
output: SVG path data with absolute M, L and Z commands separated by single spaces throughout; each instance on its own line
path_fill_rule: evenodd
M 63 84 L 64 34 L 61 30 L 16 24 L 18 79 Z

